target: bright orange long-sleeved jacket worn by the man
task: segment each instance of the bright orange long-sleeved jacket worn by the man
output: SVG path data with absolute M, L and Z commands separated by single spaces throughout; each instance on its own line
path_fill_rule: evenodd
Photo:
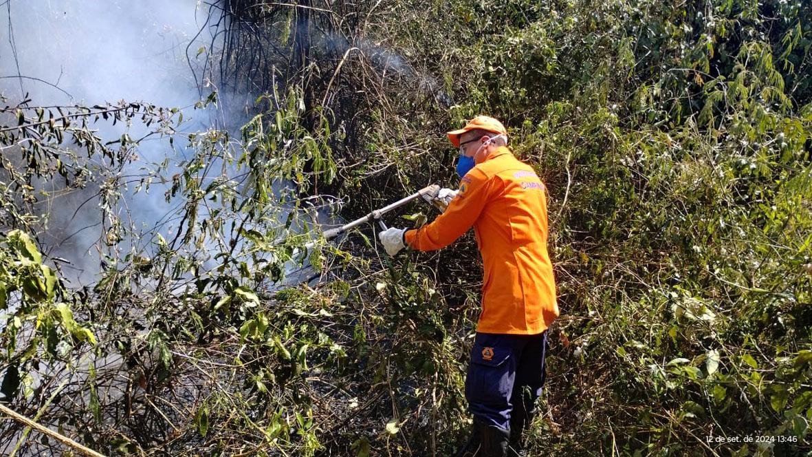
M 406 232 L 417 250 L 441 249 L 473 225 L 485 279 L 477 332 L 535 334 L 559 315 L 547 254 L 545 188 L 533 168 L 500 147 L 471 169 L 447 210 Z

